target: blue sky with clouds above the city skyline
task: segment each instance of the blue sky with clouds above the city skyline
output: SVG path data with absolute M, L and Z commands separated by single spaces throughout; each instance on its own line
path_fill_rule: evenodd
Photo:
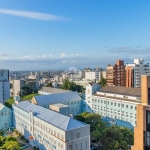
M 0 0 L 0 68 L 150 62 L 149 0 Z

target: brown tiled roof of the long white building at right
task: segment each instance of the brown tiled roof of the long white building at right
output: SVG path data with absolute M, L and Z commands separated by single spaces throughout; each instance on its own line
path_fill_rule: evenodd
M 100 90 L 100 92 L 141 97 L 141 88 L 131 88 L 124 86 L 105 86 Z

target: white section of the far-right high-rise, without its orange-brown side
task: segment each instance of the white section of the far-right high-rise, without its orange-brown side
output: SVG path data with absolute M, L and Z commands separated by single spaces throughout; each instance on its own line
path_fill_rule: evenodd
M 144 64 L 144 59 L 134 59 L 134 64 L 127 64 L 126 68 L 132 70 L 133 87 L 141 87 L 141 75 L 150 75 L 149 64 Z

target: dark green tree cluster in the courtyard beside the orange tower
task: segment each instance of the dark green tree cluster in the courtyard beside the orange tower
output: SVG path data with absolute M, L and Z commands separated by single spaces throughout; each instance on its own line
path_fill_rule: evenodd
M 126 127 L 109 126 L 99 114 L 84 112 L 74 117 L 90 124 L 91 139 L 104 150 L 129 150 L 133 145 L 133 132 Z

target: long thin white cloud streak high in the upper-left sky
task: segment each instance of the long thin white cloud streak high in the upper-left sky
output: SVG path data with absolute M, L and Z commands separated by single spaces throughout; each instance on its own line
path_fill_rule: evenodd
M 30 19 L 36 19 L 36 20 L 47 20 L 47 21 L 66 20 L 63 17 L 52 15 L 52 14 L 32 12 L 32 11 L 23 11 L 23 10 L 0 9 L 0 13 L 7 14 L 7 15 L 13 15 L 13 16 L 26 17 L 26 18 L 30 18 Z

